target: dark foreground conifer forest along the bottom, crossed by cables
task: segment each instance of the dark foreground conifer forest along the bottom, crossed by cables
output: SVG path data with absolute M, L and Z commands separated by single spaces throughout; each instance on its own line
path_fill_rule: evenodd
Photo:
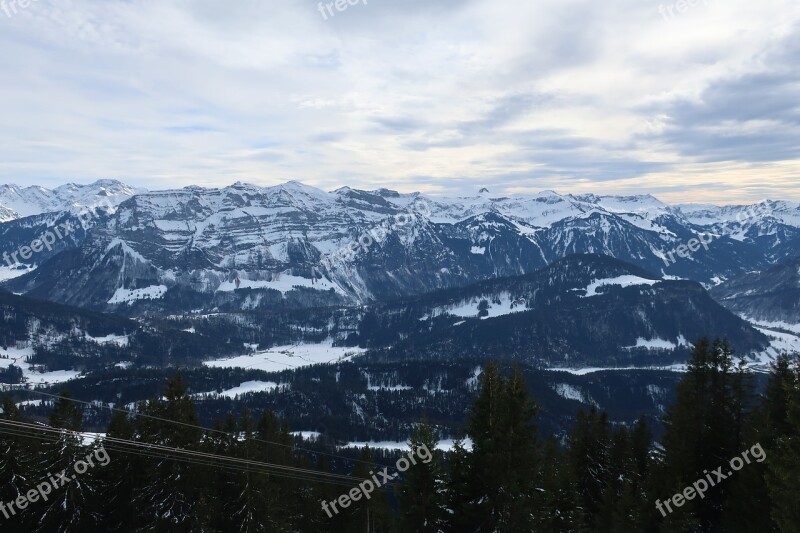
M 41 424 L 15 405 L 26 394 L 3 402 L 0 502 L 23 501 L 79 461 L 99 464 L 50 501 L 6 503 L 0 518 L 13 531 L 793 532 L 800 523 L 800 365 L 779 358 L 757 393 L 720 340 L 695 344 L 658 442 L 643 418 L 614 424 L 594 408 L 564 439 L 541 437 L 521 369 L 494 364 L 468 440 L 446 453 L 434 451 L 426 417 L 410 450 L 357 457 L 296 441 L 271 411 L 204 428 L 180 375 L 135 410 L 115 410 L 93 442 L 79 432 L 99 405 L 63 393 Z

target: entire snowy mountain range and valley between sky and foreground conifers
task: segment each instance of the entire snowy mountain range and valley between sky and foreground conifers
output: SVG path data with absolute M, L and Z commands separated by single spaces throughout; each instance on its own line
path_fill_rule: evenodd
M 302 430 L 395 439 L 427 411 L 456 432 L 496 360 L 548 427 L 576 403 L 657 424 L 698 338 L 758 370 L 800 350 L 787 201 L 100 181 L 0 187 L 0 216 L 0 382 L 86 401 L 181 367 L 209 417 L 255 390 Z

